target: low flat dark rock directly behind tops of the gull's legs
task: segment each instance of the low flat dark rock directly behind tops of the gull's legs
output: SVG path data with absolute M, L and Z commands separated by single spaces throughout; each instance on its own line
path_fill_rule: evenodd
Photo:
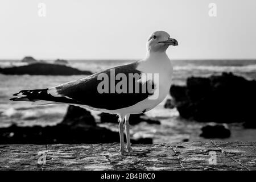
M 101 113 L 101 123 L 118 123 L 118 116 L 115 114 Z M 137 125 L 140 122 L 147 122 L 148 124 L 160 125 L 160 121 L 150 119 L 145 114 L 131 114 L 129 118 L 130 125 Z

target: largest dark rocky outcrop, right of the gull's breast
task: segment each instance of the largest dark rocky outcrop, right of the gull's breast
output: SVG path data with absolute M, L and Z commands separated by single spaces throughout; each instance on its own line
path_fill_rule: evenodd
M 187 86 L 171 86 L 180 116 L 200 122 L 255 122 L 256 81 L 233 73 L 189 77 Z

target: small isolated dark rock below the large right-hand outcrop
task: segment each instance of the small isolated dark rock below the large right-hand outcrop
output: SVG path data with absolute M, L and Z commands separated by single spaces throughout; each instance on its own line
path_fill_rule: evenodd
M 230 130 L 225 124 L 222 125 L 207 125 L 201 128 L 200 137 L 204 138 L 229 138 Z

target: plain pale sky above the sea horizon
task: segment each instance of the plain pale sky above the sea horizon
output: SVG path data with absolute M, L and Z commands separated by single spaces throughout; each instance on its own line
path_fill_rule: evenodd
M 179 42 L 171 59 L 256 59 L 255 9 L 255 0 L 1 0 L 0 59 L 141 59 L 157 30 Z

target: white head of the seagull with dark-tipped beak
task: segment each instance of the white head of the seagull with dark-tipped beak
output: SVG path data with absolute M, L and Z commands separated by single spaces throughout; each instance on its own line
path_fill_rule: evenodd
M 170 38 L 165 31 L 153 32 L 147 40 L 147 51 L 165 52 L 169 46 L 177 46 L 177 40 Z

